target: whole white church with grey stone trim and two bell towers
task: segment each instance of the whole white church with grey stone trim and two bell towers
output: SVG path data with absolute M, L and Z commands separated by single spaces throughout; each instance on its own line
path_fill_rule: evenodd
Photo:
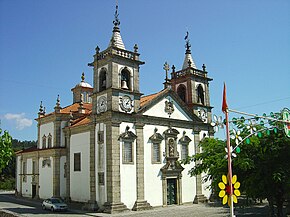
M 186 40 L 183 67 L 164 65 L 158 93 L 139 87 L 138 47 L 125 48 L 116 8 L 109 46 L 96 48 L 93 86 L 82 80 L 73 103 L 45 113 L 41 103 L 37 147 L 17 153 L 16 192 L 23 197 L 62 197 L 107 213 L 202 202 L 210 196 L 194 165 L 180 160 L 212 137 L 209 82 L 197 69 Z

